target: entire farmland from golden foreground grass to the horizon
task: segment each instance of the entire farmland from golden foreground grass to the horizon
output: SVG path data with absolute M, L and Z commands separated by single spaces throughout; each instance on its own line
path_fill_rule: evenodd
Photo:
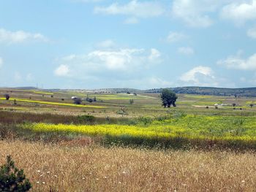
M 0 163 L 12 155 L 32 191 L 256 188 L 256 98 L 177 94 L 164 108 L 159 93 L 0 95 Z

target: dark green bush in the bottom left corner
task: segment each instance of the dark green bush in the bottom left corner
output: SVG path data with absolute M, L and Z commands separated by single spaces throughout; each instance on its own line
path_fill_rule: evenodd
M 10 155 L 6 164 L 0 167 L 0 191 L 29 191 L 31 183 L 26 179 L 23 169 L 15 167 Z

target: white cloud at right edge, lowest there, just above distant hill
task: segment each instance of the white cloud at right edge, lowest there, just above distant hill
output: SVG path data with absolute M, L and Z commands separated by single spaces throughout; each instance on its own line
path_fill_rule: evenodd
M 219 65 L 226 66 L 228 69 L 256 70 L 256 53 L 243 59 L 240 54 L 229 56 L 217 62 Z

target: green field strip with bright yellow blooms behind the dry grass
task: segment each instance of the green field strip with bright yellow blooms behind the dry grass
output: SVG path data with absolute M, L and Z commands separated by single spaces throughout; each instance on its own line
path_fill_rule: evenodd
M 177 112 L 157 118 L 138 118 L 132 125 L 27 123 L 20 127 L 40 133 L 103 137 L 105 142 L 122 145 L 208 147 L 214 143 L 217 147 L 256 149 L 256 120 L 253 117 L 213 117 Z

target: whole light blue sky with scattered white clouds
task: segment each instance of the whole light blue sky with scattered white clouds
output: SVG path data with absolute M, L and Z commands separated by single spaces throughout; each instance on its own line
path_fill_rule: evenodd
M 256 0 L 0 0 L 0 87 L 256 86 Z

